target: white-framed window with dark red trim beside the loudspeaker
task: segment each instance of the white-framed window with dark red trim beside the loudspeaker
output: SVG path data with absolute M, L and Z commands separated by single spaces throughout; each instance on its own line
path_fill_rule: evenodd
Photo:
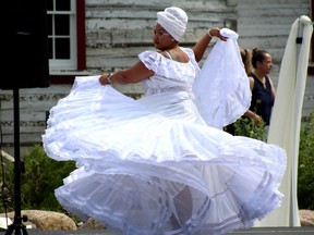
M 85 0 L 47 0 L 49 69 L 86 69 Z

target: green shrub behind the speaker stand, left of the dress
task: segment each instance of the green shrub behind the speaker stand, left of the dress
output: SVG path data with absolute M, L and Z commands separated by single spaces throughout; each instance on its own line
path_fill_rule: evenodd
M 56 161 L 48 158 L 43 147 L 34 146 L 23 156 L 25 173 L 21 173 L 21 208 L 23 210 L 64 211 L 59 205 L 55 189 L 75 170 L 74 161 Z M 13 166 L 13 163 L 12 163 Z M 14 203 L 14 171 L 5 170 L 5 191 L 11 199 L 7 201 L 8 211 L 13 210 Z M 9 168 L 8 168 L 9 170 Z

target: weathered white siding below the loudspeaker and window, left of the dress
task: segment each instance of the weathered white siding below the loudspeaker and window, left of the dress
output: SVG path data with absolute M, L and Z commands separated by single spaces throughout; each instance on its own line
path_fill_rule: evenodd
M 41 143 L 46 128 L 47 111 L 58 100 L 69 94 L 71 86 L 50 86 L 49 88 L 20 89 L 20 143 L 21 149 Z M 14 146 L 14 107 L 13 92 L 0 90 L 2 147 L 13 154 Z M 16 108 L 16 107 L 15 107 Z M 25 148 L 27 150 L 27 148 Z

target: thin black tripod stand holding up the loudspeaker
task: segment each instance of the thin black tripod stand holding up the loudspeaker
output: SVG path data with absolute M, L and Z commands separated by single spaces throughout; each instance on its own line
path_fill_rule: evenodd
M 13 88 L 13 110 L 14 110 L 14 221 L 8 226 L 5 235 L 15 231 L 16 235 L 27 235 L 27 217 L 21 215 L 21 172 L 25 172 L 24 164 L 20 160 L 20 95 L 19 88 Z

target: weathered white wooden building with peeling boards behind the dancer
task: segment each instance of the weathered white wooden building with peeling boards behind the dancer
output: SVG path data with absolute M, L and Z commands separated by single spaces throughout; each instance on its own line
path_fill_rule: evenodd
M 34 144 L 41 144 L 48 111 L 69 94 L 75 76 L 119 71 L 132 65 L 143 50 L 154 49 L 152 28 L 156 12 L 166 7 L 180 7 L 189 15 L 181 46 L 192 47 L 207 28 L 217 26 L 237 30 L 240 47 L 269 51 L 275 61 L 270 74 L 275 84 L 292 23 L 301 15 L 311 17 L 314 13 L 313 0 L 62 0 L 67 4 L 60 7 L 61 11 L 51 8 L 56 7 L 55 1 L 48 2 L 49 16 L 67 15 L 69 58 L 50 58 L 49 87 L 20 89 L 22 152 Z M 60 25 L 58 21 L 55 23 L 63 28 L 62 20 Z M 208 52 L 214 44 L 209 45 Z M 310 65 L 313 60 L 311 54 Z M 314 111 L 313 67 L 309 71 L 303 118 Z M 117 89 L 133 97 L 142 92 L 138 85 L 117 86 Z M 0 102 L 2 149 L 14 156 L 12 90 L 0 89 Z

